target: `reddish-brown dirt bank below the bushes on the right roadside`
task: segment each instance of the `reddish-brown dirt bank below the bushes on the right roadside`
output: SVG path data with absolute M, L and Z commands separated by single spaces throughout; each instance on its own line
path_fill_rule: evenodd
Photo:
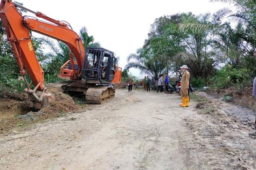
M 254 109 L 256 106 L 256 100 L 252 96 L 252 91 L 252 87 L 246 87 L 242 91 L 232 87 L 221 90 L 209 89 L 207 90 L 207 93 L 216 98 L 225 98 L 226 96 L 230 96 L 232 99 L 229 100 L 229 102 Z

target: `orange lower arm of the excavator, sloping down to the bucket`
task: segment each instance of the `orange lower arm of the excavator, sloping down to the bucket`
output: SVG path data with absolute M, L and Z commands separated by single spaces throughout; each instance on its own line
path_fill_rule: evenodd
M 1 0 L 0 18 L 5 27 L 7 40 L 12 46 L 20 74 L 25 78 L 25 66 L 33 84 L 38 85 L 38 90 L 43 91 L 44 71 L 35 56 L 29 30 L 22 23 L 22 15 L 12 2 Z

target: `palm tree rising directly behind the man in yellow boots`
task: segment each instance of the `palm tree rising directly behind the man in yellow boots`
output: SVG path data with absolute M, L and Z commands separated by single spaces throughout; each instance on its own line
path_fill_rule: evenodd
M 179 46 L 184 49 L 177 51 L 176 56 L 173 57 L 175 69 L 187 65 L 193 77 L 204 79 L 209 78 L 215 71 L 214 68 L 222 55 L 211 48 L 212 32 L 202 27 L 209 23 L 210 14 L 199 16 L 184 14 L 178 28 L 171 24 L 167 27 L 165 36 L 179 39 Z

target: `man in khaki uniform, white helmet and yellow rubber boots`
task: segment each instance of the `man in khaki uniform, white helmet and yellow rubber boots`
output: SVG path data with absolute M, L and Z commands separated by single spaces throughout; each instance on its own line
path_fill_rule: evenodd
M 181 98 L 182 98 L 181 107 L 188 107 L 188 105 L 189 105 L 188 88 L 189 88 L 190 74 L 187 71 L 186 65 L 182 66 L 181 70 L 183 71 L 183 75 L 181 78 Z

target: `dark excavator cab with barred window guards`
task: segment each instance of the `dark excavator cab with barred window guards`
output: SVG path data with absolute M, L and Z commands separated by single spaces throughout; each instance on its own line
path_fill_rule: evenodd
M 114 53 L 104 48 L 88 47 L 82 69 L 82 81 L 93 84 L 109 84 L 116 72 Z

